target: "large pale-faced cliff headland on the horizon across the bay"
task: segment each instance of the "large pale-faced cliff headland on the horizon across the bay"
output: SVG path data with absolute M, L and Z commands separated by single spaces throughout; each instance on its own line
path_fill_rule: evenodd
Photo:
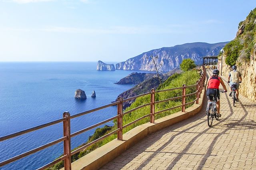
M 202 64 L 204 56 L 218 55 L 220 49 L 228 42 L 223 43 L 186 43 L 174 47 L 163 47 L 154 49 L 124 62 L 116 64 L 116 69 L 120 70 L 155 70 L 151 55 L 154 56 L 158 70 L 170 71 L 179 68 L 183 59 L 192 59 L 196 64 Z

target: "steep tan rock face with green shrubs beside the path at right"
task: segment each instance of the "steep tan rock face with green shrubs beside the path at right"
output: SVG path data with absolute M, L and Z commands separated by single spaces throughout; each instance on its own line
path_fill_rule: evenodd
M 221 57 L 221 55 L 220 55 Z M 236 38 L 224 47 L 222 75 L 236 64 L 242 74 L 239 92 L 256 101 L 256 8 L 238 26 Z

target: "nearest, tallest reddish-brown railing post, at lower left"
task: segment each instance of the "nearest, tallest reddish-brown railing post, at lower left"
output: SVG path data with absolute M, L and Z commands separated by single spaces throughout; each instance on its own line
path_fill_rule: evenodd
M 64 112 L 63 117 L 67 117 L 67 119 L 63 121 L 63 135 L 68 137 L 68 139 L 63 141 L 64 155 L 68 155 L 68 157 L 64 159 L 64 169 L 71 170 L 70 113 L 68 111 Z

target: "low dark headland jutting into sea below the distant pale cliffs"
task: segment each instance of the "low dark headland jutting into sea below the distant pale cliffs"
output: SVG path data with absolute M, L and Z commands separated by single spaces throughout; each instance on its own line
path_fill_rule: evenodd
M 139 84 L 144 80 L 155 76 L 156 73 L 138 73 L 133 72 L 128 76 L 122 78 L 120 81 L 116 82 L 115 84 Z

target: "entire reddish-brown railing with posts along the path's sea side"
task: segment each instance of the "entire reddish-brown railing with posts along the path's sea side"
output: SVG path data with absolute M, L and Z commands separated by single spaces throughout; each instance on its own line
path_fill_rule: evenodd
M 130 97 L 130 98 L 127 98 L 127 99 L 122 99 L 121 97 L 119 97 L 117 102 L 114 102 L 114 103 L 111 103 L 111 104 L 108 104 L 108 105 L 105 105 L 105 106 L 97 107 L 95 109 L 91 109 L 91 110 L 88 110 L 88 111 L 84 111 L 82 113 L 78 113 L 78 114 L 75 114 L 75 115 L 72 115 L 72 116 L 70 116 L 69 112 L 64 112 L 63 113 L 63 118 L 61 118 L 61 119 L 58 119 L 58 120 L 55 120 L 55 121 L 52 121 L 52 122 L 49 122 L 49 123 L 45 123 L 43 125 L 39 125 L 39 126 L 36 126 L 36 127 L 32 127 L 30 129 L 26 129 L 26 130 L 23 130 L 23 131 L 12 133 L 10 135 L 0 137 L 0 141 L 5 141 L 5 140 L 13 138 L 13 137 L 18 137 L 18 136 L 23 135 L 25 133 L 36 131 L 38 129 L 42 129 L 44 127 L 48 127 L 48 126 L 55 125 L 57 123 L 63 122 L 63 137 L 61 137 L 61 138 L 59 138 L 55 141 L 52 141 L 50 143 L 47 143 L 45 145 L 42 145 L 40 147 L 37 147 L 35 149 L 32 149 L 32 150 L 29 150 L 29 151 L 24 152 L 22 154 L 19 154 L 17 156 L 14 156 L 12 158 L 9 158 L 7 160 L 4 160 L 4 161 L 0 162 L 0 167 L 4 166 L 6 164 L 9 164 L 11 162 L 14 162 L 14 161 L 16 161 L 20 158 L 25 157 L 25 156 L 28 156 L 30 154 L 33 154 L 35 152 L 38 152 L 39 150 L 45 149 L 47 147 L 50 147 L 52 145 L 55 145 L 55 144 L 60 143 L 60 142 L 63 141 L 64 155 L 61 156 L 60 158 L 46 164 L 46 165 L 38 168 L 37 170 L 43 170 L 43 169 L 48 168 L 48 167 L 50 167 L 50 166 L 52 166 L 52 165 L 54 165 L 57 162 L 62 161 L 62 160 L 64 160 L 64 169 L 65 170 L 71 170 L 71 156 L 80 152 L 81 150 L 86 149 L 87 147 L 93 145 L 94 143 L 97 143 L 98 141 L 101 141 L 104 138 L 106 138 L 106 137 L 108 137 L 108 136 L 110 136 L 114 133 L 117 133 L 117 139 L 118 140 L 122 140 L 122 130 L 123 130 L 123 128 L 128 127 L 128 126 L 136 123 L 137 121 L 140 121 L 141 119 L 144 119 L 145 117 L 150 117 L 150 123 L 154 123 L 155 115 L 158 114 L 158 113 L 162 113 L 164 111 L 169 111 L 169 110 L 172 110 L 172 109 L 175 109 L 175 108 L 178 108 L 178 107 L 181 107 L 182 111 L 185 112 L 185 109 L 186 109 L 187 105 L 193 104 L 194 102 L 196 102 L 196 104 L 198 104 L 198 99 L 200 98 L 200 94 L 202 93 L 202 89 L 203 89 L 203 86 L 204 86 L 204 81 L 205 81 L 205 78 L 206 78 L 205 67 L 202 66 L 202 68 L 203 68 L 202 74 L 200 76 L 200 79 L 196 82 L 196 84 L 193 84 L 193 85 L 190 85 L 190 86 L 186 86 L 184 84 L 182 87 L 172 88 L 172 89 L 165 89 L 165 90 L 158 90 L 158 91 L 155 91 L 154 89 L 151 89 L 150 92 L 148 92 L 148 93 L 140 94 L 138 96 Z M 193 93 L 190 93 L 190 94 L 186 94 L 186 89 L 191 88 L 191 87 L 196 87 L 196 91 L 193 92 Z M 177 97 L 174 97 L 174 98 L 168 98 L 168 99 L 161 100 L 161 101 L 155 101 L 155 94 L 156 93 L 167 92 L 167 91 L 172 91 L 172 90 L 179 90 L 179 89 L 182 90 L 182 96 L 177 96 Z M 134 109 L 131 109 L 131 110 L 126 111 L 126 112 L 123 113 L 123 106 L 122 106 L 123 102 L 126 102 L 128 100 L 133 100 L 133 99 L 136 99 L 138 97 L 145 96 L 145 95 L 148 95 L 148 94 L 150 94 L 150 103 L 144 104 L 142 106 L 138 106 Z M 196 99 L 193 100 L 192 102 L 186 103 L 186 97 L 192 96 L 192 95 L 196 95 Z M 171 100 L 177 100 L 177 99 L 180 99 L 180 98 L 182 99 L 181 105 L 155 112 L 155 104 L 162 103 L 162 102 L 168 102 L 168 101 L 171 101 Z M 86 127 L 84 129 L 81 129 L 80 131 L 76 131 L 75 133 L 72 133 L 72 134 L 70 133 L 70 119 L 73 119 L 73 118 L 76 118 L 76 117 L 79 117 L 79 116 L 82 116 L 82 115 L 85 115 L 85 114 L 88 114 L 88 113 L 92 113 L 94 111 L 104 109 L 104 108 L 107 108 L 107 107 L 110 107 L 110 106 L 117 106 L 117 115 L 116 116 L 111 117 L 109 119 L 106 119 L 104 121 L 101 121 L 99 123 L 96 123 L 96 124 L 94 124 L 90 127 Z M 140 109 L 140 108 L 145 107 L 145 106 L 150 106 L 150 113 L 149 114 L 144 115 L 144 116 L 142 116 L 142 117 L 140 117 L 140 118 L 124 125 L 124 126 L 122 125 L 122 117 L 124 115 L 126 115 L 127 113 L 131 113 L 132 111 L 135 111 L 135 110 Z M 80 133 L 88 131 L 88 130 L 94 128 L 94 127 L 98 127 L 99 125 L 102 125 L 102 124 L 107 123 L 109 121 L 112 121 L 114 119 L 117 119 L 117 129 L 116 130 L 114 130 L 114 131 L 108 133 L 107 135 L 104 135 L 104 136 L 92 141 L 91 143 L 88 143 L 88 144 L 86 144 L 86 145 L 84 145 L 84 146 L 82 146 L 82 147 L 80 147 L 80 148 L 71 152 L 71 147 L 70 147 L 71 137 L 74 137 L 74 136 L 76 136 Z

